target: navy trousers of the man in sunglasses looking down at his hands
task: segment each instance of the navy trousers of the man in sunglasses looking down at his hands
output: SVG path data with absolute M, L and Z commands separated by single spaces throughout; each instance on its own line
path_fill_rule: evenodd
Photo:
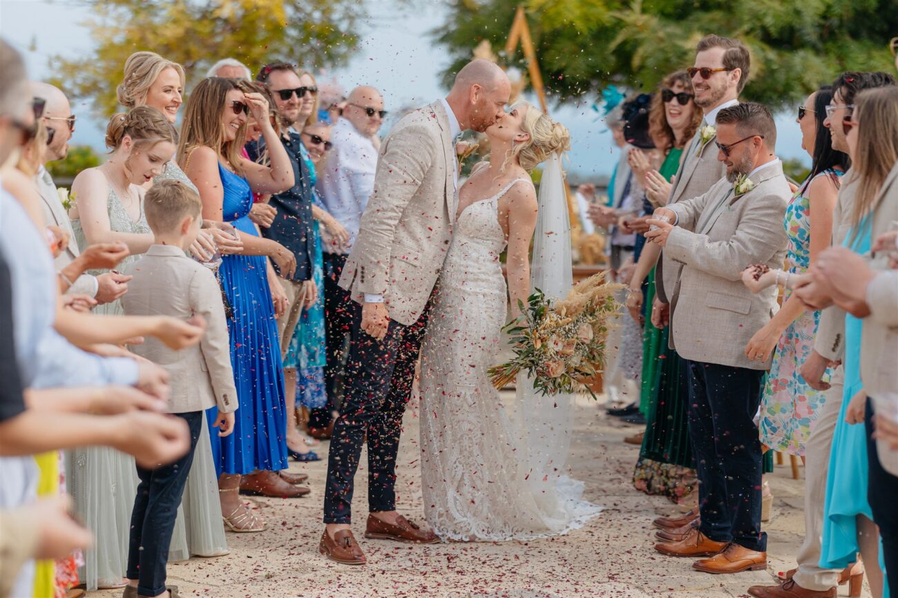
M 699 475 L 699 529 L 713 541 L 763 552 L 763 453 L 754 417 L 764 373 L 686 359 L 682 367 L 689 380 L 689 435 Z

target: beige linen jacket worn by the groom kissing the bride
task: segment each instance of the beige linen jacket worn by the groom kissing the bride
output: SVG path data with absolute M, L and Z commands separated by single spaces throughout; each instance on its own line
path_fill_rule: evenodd
M 418 320 L 443 268 L 455 219 L 455 156 L 442 102 L 414 110 L 381 145 L 374 192 L 339 285 L 383 295 L 392 320 Z

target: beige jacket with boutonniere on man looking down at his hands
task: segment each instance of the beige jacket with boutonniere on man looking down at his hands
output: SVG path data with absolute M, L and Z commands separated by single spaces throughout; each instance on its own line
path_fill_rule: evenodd
M 678 221 L 665 253 L 682 268 L 671 298 L 670 345 L 685 359 L 770 367 L 770 360 L 750 360 L 744 350 L 777 312 L 777 289 L 754 295 L 740 274 L 752 264 L 782 266 L 788 241 L 782 223 L 791 191 L 779 163 L 755 172 L 752 181 L 754 189 L 741 196 L 721 179 L 704 195 L 668 206 Z M 715 209 L 721 200 L 722 209 Z

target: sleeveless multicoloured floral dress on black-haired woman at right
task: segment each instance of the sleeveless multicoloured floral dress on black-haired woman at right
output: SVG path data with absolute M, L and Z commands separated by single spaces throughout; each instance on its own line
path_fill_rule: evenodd
M 826 170 L 816 177 L 838 181 L 842 174 L 842 171 Z M 811 201 L 805 195 L 810 184 L 811 180 L 806 180 L 786 207 L 786 268 L 793 274 L 804 273 L 811 261 Z M 783 296 L 783 303 L 789 295 L 790 290 Z M 780 453 L 805 454 L 807 437 L 823 408 L 826 393 L 814 391 L 798 373 L 814 349 L 819 323 L 820 312 L 802 312 L 779 337 L 773 354 L 764 384 L 760 428 L 762 444 Z M 825 379 L 828 377 L 829 374 Z

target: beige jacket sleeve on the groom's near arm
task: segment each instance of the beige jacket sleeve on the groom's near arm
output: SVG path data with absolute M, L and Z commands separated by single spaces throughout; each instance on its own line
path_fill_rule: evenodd
M 412 124 L 392 133 L 383 142 L 374 175 L 374 193 L 362 215 L 353 247 L 362 276 L 355 288 L 368 295 L 384 295 L 390 286 L 390 252 L 396 226 L 411 198 L 434 162 L 433 132 L 424 124 Z

